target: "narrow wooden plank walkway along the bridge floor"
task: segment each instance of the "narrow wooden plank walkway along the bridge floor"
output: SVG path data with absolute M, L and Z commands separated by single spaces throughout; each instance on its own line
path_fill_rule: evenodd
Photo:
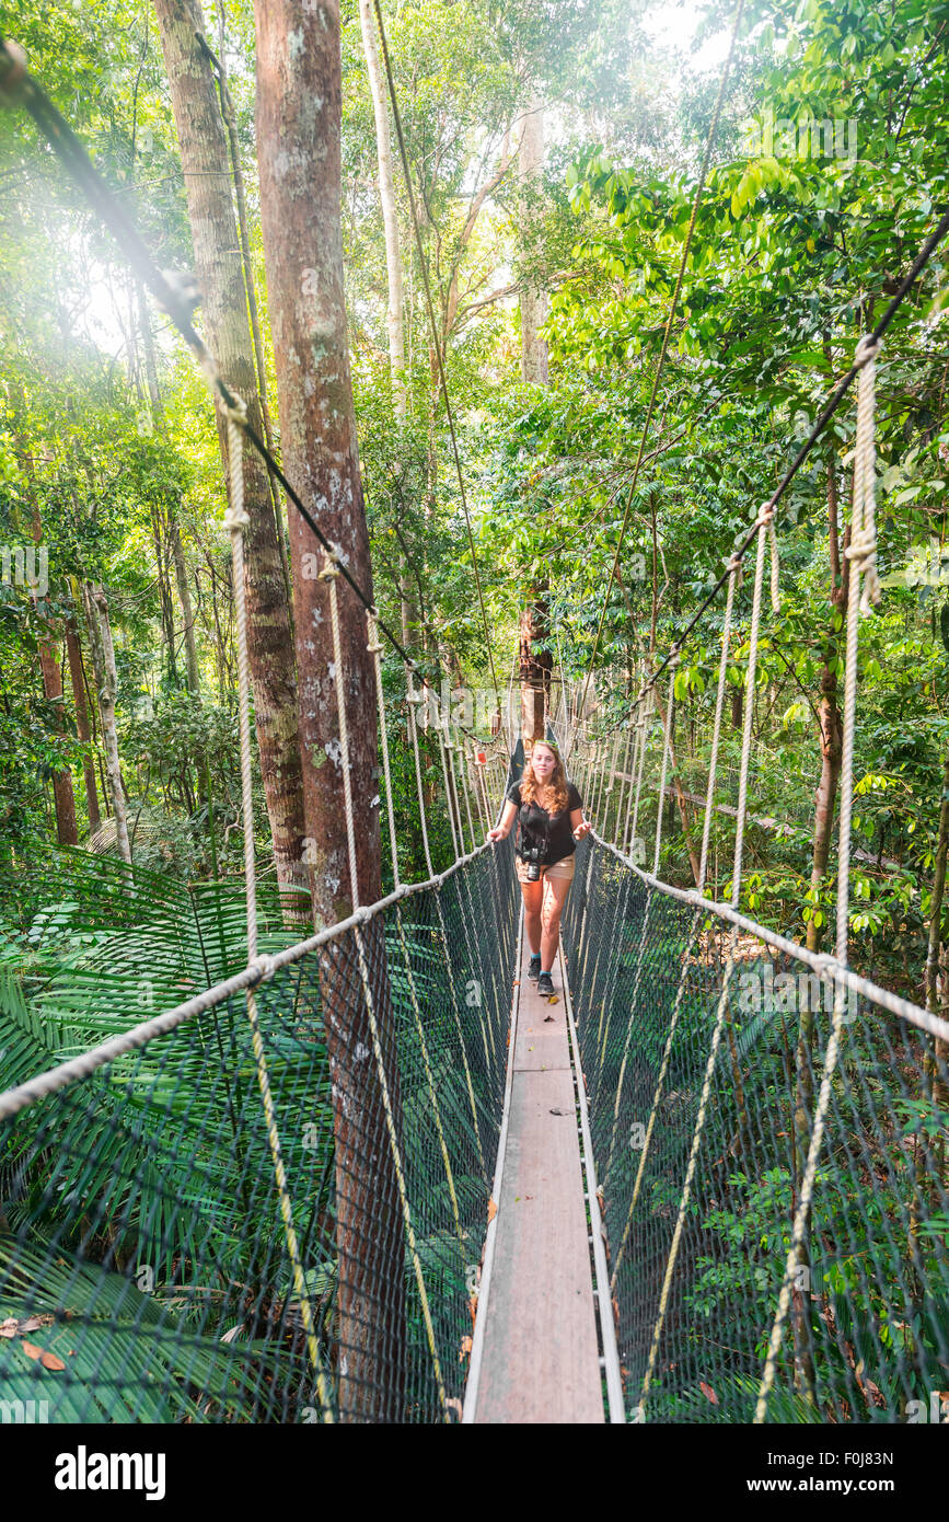
M 528 982 L 522 938 L 503 1175 L 487 1294 L 478 1423 L 604 1422 L 567 1014 Z M 563 979 L 563 962 L 554 982 Z M 470 1419 L 468 1419 L 470 1420 Z

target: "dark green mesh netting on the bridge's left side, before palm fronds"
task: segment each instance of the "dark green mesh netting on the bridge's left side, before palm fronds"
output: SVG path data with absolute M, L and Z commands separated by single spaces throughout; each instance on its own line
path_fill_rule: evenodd
M 506 1064 L 506 855 L 487 852 L 360 931 L 415 1253 L 354 933 L 257 988 L 315 1358 L 243 994 L 0 1122 L 11 1411 L 46 1402 L 36 1420 L 84 1423 L 461 1415 Z M 59 874 L 49 945 L 79 916 L 68 863 Z M 84 884 L 90 939 L 76 965 L 44 977 L 40 960 L 26 988 L 0 989 L 0 1088 L 243 965 L 237 895 L 170 893 L 155 907 L 148 875 L 120 864 Z M 292 939 L 263 904 L 260 948 Z

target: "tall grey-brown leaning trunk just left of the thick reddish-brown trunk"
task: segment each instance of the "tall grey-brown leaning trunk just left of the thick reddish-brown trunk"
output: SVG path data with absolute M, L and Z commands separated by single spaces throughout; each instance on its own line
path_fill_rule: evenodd
M 178 128 L 207 342 L 225 384 L 245 399 L 249 423 L 260 434 L 263 422 L 231 199 L 228 145 L 211 64 L 198 41 L 198 33 L 204 33 L 204 17 L 198 0 L 155 0 L 155 14 Z M 272 151 L 280 152 L 277 145 Z M 307 263 L 309 256 L 297 268 L 298 286 Z M 227 425 L 221 417 L 217 432 L 222 460 L 227 461 Z M 243 473 L 245 507 L 251 519 L 245 563 L 260 773 L 277 881 L 281 889 L 290 890 L 303 886 L 300 863 L 304 837 L 294 645 L 268 472 L 249 447 L 243 455 Z

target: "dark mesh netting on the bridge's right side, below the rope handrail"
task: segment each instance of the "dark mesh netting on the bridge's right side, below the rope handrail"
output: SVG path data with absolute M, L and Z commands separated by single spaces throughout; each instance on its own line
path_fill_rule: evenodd
M 564 948 L 628 1419 L 751 1423 L 768 1371 L 766 1422 L 919 1420 L 949 1353 L 949 1023 L 602 839 L 579 851 Z M 801 1152 L 798 1090 L 817 1102 L 827 1076 L 838 988 L 795 1237 L 815 1119 Z

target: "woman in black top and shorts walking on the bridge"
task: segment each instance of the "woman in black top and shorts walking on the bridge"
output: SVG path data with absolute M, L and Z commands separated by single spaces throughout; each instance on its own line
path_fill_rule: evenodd
M 503 840 L 517 819 L 517 880 L 525 901 L 531 942 L 528 977 L 537 992 L 554 992 L 554 957 L 560 944 L 560 915 L 573 881 L 576 842 L 593 828 L 584 820 L 579 793 L 567 782 L 557 746 L 538 740 L 520 782 L 508 788 L 500 823 L 488 840 Z

